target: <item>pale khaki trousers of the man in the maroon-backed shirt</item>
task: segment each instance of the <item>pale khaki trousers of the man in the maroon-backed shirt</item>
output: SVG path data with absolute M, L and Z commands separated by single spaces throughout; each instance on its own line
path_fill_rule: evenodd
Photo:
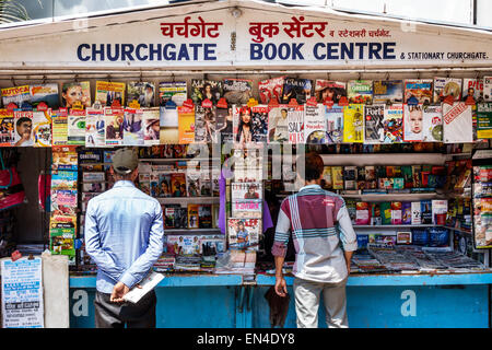
M 328 328 L 348 328 L 345 284 L 347 278 L 339 283 L 321 283 L 295 278 L 293 287 L 297 328 L 318 327 L 321 294 Z

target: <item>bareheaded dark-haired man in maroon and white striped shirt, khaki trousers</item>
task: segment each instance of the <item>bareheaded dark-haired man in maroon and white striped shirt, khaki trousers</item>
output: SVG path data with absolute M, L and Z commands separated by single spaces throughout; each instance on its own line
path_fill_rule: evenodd
M 297 327 L 318 327 L 321 293 L 328 327 L 348 327 L 345 284 L 350 259 L 358 248 L 356 235 L 343 198 L 319 186 L 324 168 L 321 158 L 307 154 L 297 159 L 297 164 L 302 163 L 305 174 L 297 176 L 305 186 L 283 200 L 277 222 L 272 247 L 276 292 L 281 296 L 286 294 L 282 266 L 292 233 Z

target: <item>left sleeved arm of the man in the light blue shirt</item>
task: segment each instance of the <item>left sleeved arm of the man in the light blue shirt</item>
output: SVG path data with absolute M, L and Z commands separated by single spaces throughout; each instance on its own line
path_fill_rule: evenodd
M 92 200 L 89 201 L 85 213 L 84 237 L 85 252 L 97 265 L 97 268 L 117 281 L 124 270 L 119 268 L 115 264 L 113 257 L 101 247 L 99 229 L 97 228 L 95 208 Z

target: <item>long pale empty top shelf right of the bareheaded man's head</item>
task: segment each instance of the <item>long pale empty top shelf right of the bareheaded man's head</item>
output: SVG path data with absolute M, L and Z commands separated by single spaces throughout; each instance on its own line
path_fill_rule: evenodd
M 360 153 L 360 154 L 319 154 L 325 165 L 444 165 L 443 153 Z

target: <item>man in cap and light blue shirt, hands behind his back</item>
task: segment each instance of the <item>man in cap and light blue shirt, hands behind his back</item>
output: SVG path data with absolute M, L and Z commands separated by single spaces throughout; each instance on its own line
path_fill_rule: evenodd
M 115 185 L 87 203 L 85 249 L 97 265 L 95 324 L 108 327 L 155 327 L 155 292 L 137 304 L 124 302 L 151 271 L 164 245 L 162 208 L 133 182 L 138 156 L 119 149 L 113 156 Z

